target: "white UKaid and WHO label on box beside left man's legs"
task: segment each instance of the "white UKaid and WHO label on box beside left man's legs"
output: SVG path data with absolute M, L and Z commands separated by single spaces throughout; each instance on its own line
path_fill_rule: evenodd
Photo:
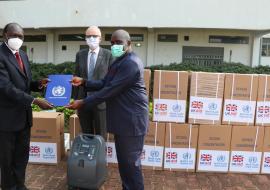
M 57 144 L 44 142 L 30 142 L 30 163 L 57 163 Z

